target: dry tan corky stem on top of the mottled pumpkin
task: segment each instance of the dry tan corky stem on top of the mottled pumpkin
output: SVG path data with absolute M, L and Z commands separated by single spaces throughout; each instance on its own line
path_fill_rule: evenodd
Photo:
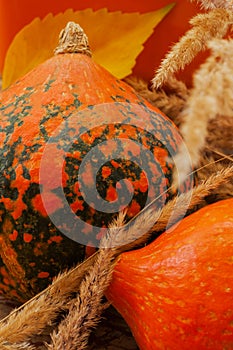
M 68 22 L 60 32 L 59 44 L 54 50 L 55 55 L 64 53 L 83 53 L 91 56 L 88 37 L 79 24 Z

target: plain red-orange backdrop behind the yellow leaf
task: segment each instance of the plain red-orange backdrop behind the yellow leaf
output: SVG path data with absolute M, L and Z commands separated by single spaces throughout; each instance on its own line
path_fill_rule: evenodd
M 93 0 L 86 0 L 81 2 L 78 0 L 50 0 L 41 2 L 37 0 L 32 5 L 30 0 L 21 0 L 20 2 L 18 0 L 2 0 L 0 2 L 0 72 L 3 70 L 6 51 L 15 34 L 35 17 L 43 18 L 49 12 L 56 14 L 65 11 L 67 8 L 83 10 L 88 7 L 94 10 L 106 7 L 109 11 L 121 10 L 123 12 L 139 11 L 145 13 L 158 10 L 172 2 L 174 1 L 101 0 L 94 2 Z M 133 73 L 148 81 L 151 80 L 155 69 L 158 68 L 169 47 L 189 28 L 189 19 L 197 12 L 200 12 L 200 8 L 195 2 L 177 0 L 171 13 L 156 27 L 154 34 L 145 43 L 144 50 L 137 59 Z M 190 83 L 192 71 L 198 63 L 192 64 L 191 69 L 181 75 L 188 83 Z

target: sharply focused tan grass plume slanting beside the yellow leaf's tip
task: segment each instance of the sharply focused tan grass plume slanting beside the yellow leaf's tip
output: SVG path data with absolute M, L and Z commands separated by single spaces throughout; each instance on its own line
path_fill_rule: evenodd
M 158 89 L 174 73 L 184 69 L 200 51 L 207 49 L 207 43 L 211 39 L 223 38 L 232 23 L 233 13 L 226 9 L 213 9 L 209 13 L 193 17 L 190 20 L 193 28 L 172 47 L 157 70 L 152 80 L 154 89 Z

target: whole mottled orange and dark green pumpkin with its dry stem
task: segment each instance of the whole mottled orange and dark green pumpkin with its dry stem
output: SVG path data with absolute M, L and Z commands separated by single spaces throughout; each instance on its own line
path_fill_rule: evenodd
M 0 291 L 18 300 L 85 259 L 127 204 L 128 219 L 163 205 L 181 142 L 92 61 L 80 26 L 67 24 L 56 53 L 0 95 Z

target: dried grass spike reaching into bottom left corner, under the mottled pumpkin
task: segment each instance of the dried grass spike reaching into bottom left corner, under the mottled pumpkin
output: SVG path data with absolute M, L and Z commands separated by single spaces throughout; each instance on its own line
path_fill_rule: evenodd
M 92 266 L 96 256 L 80 264 L 78 268 L 61 274 L 49 288 L 16 310 L 0 322 L 0 348 L 5 342 L 20 343 L 30 340 L 35 334 L 56 319 L 58 312 L 65 310 L 71 293 L 78 290 L 86 270 Z

